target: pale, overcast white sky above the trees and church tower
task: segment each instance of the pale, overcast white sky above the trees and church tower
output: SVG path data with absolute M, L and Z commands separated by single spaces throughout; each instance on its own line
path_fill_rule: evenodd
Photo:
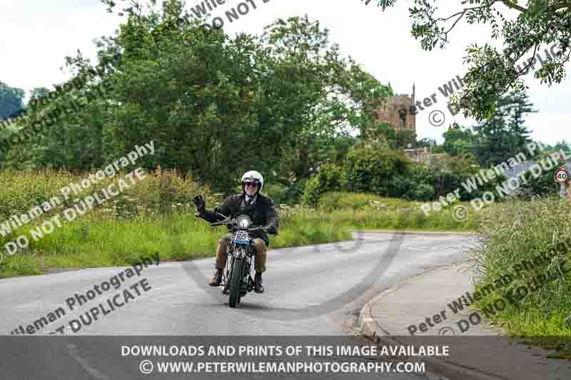
M 186 8 L 191 11 L 201 2 L 187 1 Z M 225 21 L 226 33 L 260 35 L 264 26 L 278 18 L 308 14 L 329 29 L 330 40 L 339 44 L 345 56 L 353 57 L 381 83 L 390 82 L 395 93 L 410 94 L 415 83 L 417 100 L 435 94 L 436 103 L 417 114 L 419 139 L 434 138 L 442 143 L 442 134 L 453 121 L 475 125 L 475 120 L 467 120 L 461 113 L 453 116 L 438 88 L 466 73 L 463 61 L 465 48 L 470 44 L 481 46 L 488 42 L 501 46 L 501 41 L 490 42 L 489 26 L 461 21 L 444 50 L 423 51 L 420 41 L 410 34 L 408 6 L 413 5 L 413 0 L 398 0 L 384 12 L 376 7 L 375 0 L 368 6 L 360 0 L 248 0 L 248 13 L 230 23 L 225 12 L 243 2 L 246 1 L 226 0 L 212 12 L 212 17 L 221 16 Z M 449 16 L 458 9 L 460 0 L 442 4 L 443 16 Z M 106 12 L 100 0 L 1 0 L 0 81 L 26 91 L 41 86 L 51 88 L 71 76 L 65 68 L 61 71 L 65 56 L 75 56 L 79 50 L 94 62 L 94 39 L 113 35 L 120 22 L 118 16 Z M 527 93 L 537 110 L 526 117 L 534 140 L 548 144 L 571 141 L 571 128 L 567 125 L 571 122 L 571 107 L 567 104 L 571 64 L 566 68 L 565 81 L 551 87 L 540 84 L 532 73 L 525 77 Z

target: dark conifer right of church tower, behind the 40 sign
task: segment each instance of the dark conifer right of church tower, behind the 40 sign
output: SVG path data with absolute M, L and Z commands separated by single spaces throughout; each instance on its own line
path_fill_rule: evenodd
M 525 94 L 512 92 L 500 99 L 489 120 L 474 127 L 478 136 L 476 156 L 482 166 L 497 165 L 527 150 L 531 140 L 524 115 L 536 112 L 531 106 Z

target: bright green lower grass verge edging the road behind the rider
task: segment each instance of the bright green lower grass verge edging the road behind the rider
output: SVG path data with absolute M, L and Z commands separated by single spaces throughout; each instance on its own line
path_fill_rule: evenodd
M 373 196 L 374 197 L 374 196 Z M 382 198 L 379 198 L 382 199 Z M 271 249 L 350 240 L 349 230 L 475 230 L 475 220 L 458 222 L 445 212 L 427 217 L 413 202 L 388 200 L 388 207 L 287 207 L 279 210 L 280 235 L 271 237 Z M 179 204 L 181 205 L 181 204 Z M 74 222 L 62 224 L 39 240 L 29 232 L 46 220 L 22 227 L 5 242 L 25 234 L 29 250 L 4 257 L 0 278 L 43 274 L 47 269 L 131 265 L 141 257 L 160 252 L 161 260 L 191 260 L 213 257 L 216 243 L 226 227 L 212 228 L 193 216 L 190 205 L 168 207 L 168 215 L 138 212 L 116 217 L 94 210 Z M 62 218 L 63 219 L 63 218 Z

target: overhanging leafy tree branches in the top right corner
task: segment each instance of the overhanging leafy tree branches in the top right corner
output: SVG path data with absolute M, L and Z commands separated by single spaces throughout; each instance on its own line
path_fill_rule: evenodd
M 378 0 L 383 11 L 398 0 Z M 450 0 L 446 0 L 450 3 Z M 444 0 L 415 0 L 409 8 L 413 19 L 412 34 L 420 38 L 424 50 L 435 46 L 444 48 L 453 31 L 462 19 L 468 24 L 490 24 L 491 38 L 500 35 L 504 48 L 497 51 L 491 44 L 466 49 L 465 63 L 470 64 L 463 79 L 463 92 L 451 98 L 457 108 L 464 109 L 465 116 L 478 121 L 491 118 L 498 102 L 509 91 L 523 91 L 525 76 L 536 66 L 535 78 L 542 83 L 560 83 L 565 78 L 565 63 L 570 61 L 571 3 L 568 0 L 528 0 L 521 6 L 513 0 L 470 0 L 458 1 L 461 5 L 450 16 L 436 16 L 437 3 Z M 369 4 L 366 0 L 365 4 Z M 517 13 L 511 20 L 510 14 Z M 545 62 L 536 57 L 540 47 L 551 46 Z M 522 63 L 518 61 L 524 59 Z M 540 58 L 541 59 L 541 58 Z

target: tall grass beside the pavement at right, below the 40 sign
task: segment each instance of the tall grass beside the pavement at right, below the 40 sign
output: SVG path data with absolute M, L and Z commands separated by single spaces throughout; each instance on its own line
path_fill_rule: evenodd
M 506 299 L 508 292 L 530 287 L 537 274 L 560 274 L 517 302 L 507 302 L 505 309 L 490 317 L 507 333 L 558 346 L 563 356 L 571 357 L 571 325 L 565 322 L 571 314 L 571 205 L 559 197 L 507 202 L 483 212 L 480 222 L 482 244 L 474 251 L 473 269 L 481 284 L 513 272 L 522 260 L 532 262 L 537 255 L 549 255 L 535 269 L 522 271 L 522 277 L 509 286 L 481 299 L 477 307 L 483 311 L 495 299 Z

